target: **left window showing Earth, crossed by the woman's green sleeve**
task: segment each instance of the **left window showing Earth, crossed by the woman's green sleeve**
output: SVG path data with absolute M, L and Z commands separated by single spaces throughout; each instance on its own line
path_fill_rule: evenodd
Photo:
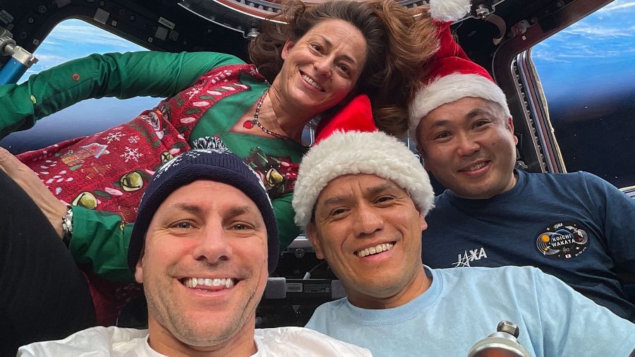
M 39 61 L 18 83 L 29 75 L 44 71 L 59 63 L 93 53 L 140 51 L 140 47 L 83 20 L 71 19 L 59 23 L 37 48 Z M 59 143 L 103 131 L 125 123 L 141 111 L 155 107 L 160 99 L 136 97 L 132 99 L 88 99 L 37 121 L 28 131 L 7 135 L 0 141 L 2 147 L 17 154 L 27 150 Z

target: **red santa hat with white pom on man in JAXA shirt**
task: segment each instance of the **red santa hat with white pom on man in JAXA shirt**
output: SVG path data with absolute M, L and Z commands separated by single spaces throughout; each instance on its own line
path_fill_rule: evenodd
M 416 142 L 416 129 L 421 119 L 435 108 L 463 97 L 478 97 L 501 105 L 511 116 L 504 92 L 485 68 L 471 61 L 454 41 L 449 25 L 470 10 L 469 0 L 430 0 L 430 15 L 437 20 L 439 49 L 427 66 L 424 86 L 409 105 L 409 130 Z

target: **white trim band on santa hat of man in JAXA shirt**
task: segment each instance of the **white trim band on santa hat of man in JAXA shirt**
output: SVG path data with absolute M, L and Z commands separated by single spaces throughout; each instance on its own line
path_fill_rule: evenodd
M 430 111 L 463 97 L 477 97 L 500 104 L 507 118 L 512 116 L 504 92 L 488 78 L 478 74 L 452 73 L 434 80 L 417 92 L 409 104 L 408 135 L 417 141 L 417 126 Z

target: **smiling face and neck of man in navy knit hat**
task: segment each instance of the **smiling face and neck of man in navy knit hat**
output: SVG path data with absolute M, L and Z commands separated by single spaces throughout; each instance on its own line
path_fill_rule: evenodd
M 267 229 L 252 200 L 214 181 L 175 190 L 152 217 L 135 272 L 150 346 L 164 354 L 228 345 L 254 353 L 267 275 Z

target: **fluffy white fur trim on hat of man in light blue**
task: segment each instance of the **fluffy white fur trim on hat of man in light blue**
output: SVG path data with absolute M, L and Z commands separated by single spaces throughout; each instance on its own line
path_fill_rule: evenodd
M 380 131 L 337 131 L 302 158 L 293 205 L 296 224 L 303 231 L 322 189 L 334 178 L 348 174 L 372 174 L 397 183 L 424 215 L 433 207 L 428 173 L 404 143 Z

